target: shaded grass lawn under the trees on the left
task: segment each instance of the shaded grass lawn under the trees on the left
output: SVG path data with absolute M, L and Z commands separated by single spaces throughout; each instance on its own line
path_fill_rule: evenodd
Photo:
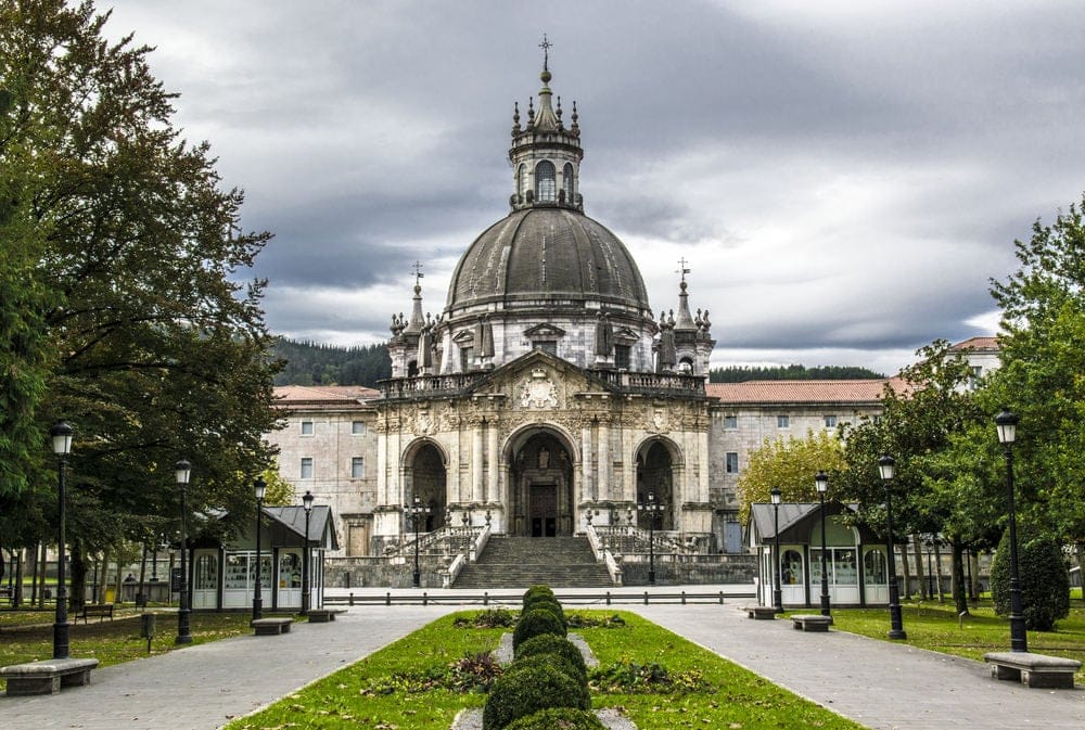
M 68 616 L 69 653 L 78 658 L 97 658 L 100 666 L 131 662 L 148 656 L 146 639 L 140 637 L 140 613 L 117 609 L 114 620 L 91 618 L 89 623 Z M 192 643 L 205 643 L 247 633 L 250 615 L 190 614 Z M 0 611 L 0 666 L 52 658 L 53 623 L 51 611 Z M 155 636 L 151 654 L 177 649 L 177 613 L 155 614 Z M 0 681 L 0 687 L 5 682 Z

